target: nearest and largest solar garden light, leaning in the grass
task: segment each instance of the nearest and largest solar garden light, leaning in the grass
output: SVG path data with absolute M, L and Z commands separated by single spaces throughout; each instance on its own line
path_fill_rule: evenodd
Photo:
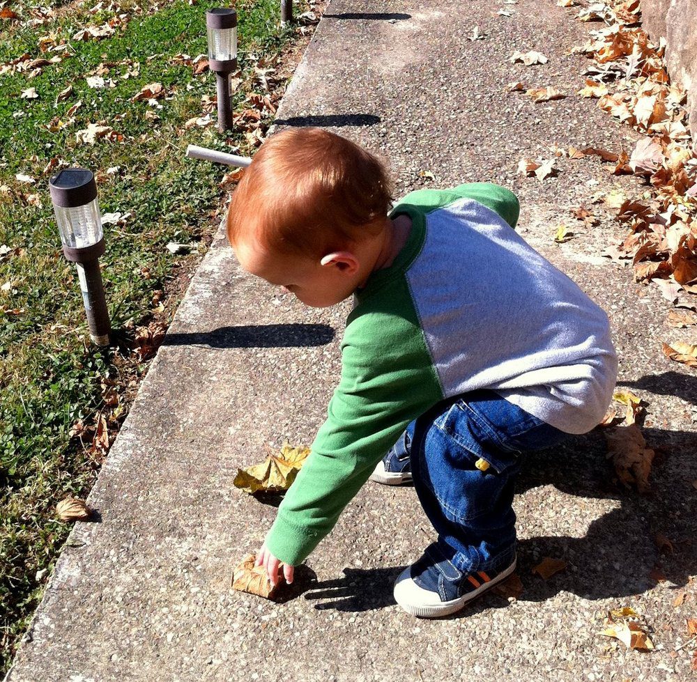
M 63 254 L 77 265 L 89 335 L 97 346 L 109 346 L 112 325 L 99 269 L 104 233 L 94 175 L 85 168 L 66 168 L 52 176 L 49 190 Z

